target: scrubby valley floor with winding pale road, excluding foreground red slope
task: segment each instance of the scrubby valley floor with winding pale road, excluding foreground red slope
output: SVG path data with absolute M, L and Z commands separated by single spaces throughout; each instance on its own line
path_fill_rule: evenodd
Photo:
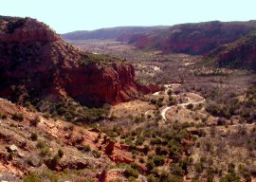
M 161 87 L 160 91 L 142 99 L 113 106 L 110 119 L 100 123 L 102 131 L 120 143 L 154 148 L 155 152 L 146 157 L 134 151 L 137 164 L 143 158 L 149 167 L 152 157 L 163 156 L 165 153 L 157 150 L 160 147 L 166 150 L 168 141 L 173 140 L 168 138 L 165 143 L 165 135 L 179 131 L 177 128 L 193 136 L 193 139 L 184 138 L 192 145 L 183 149 L 177 161 L 170 157 L 172 146 L 176 146 L 169 142 L 167 154 L 171 164 L 167 160 L 162 166 L 156 165 L 149 181 L 164 180 L 161 173 L 177 174 L 176 170 L 180 170 L 185 181 L 255 180 L 255 73 L 215 68 L 202 64 L 200 57 L 184 54 L 139 51 L 113 41 L 103 42 L 101 48 L 95 49 L 98 45 L 92 43 L 82 43 L 81 47 L 131 60 L 136 68 L 137 82 L 155 83 Z M 151 136 L 149 132 L 156 134 Z M 184 169 L 180 162 L 186 157 L 192 163 Z

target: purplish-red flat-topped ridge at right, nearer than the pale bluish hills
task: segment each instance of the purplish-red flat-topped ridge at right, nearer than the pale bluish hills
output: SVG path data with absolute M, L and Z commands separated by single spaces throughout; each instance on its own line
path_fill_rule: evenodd
M 255 29 L 255 22 L 207 22 L 170 27 L 163 32 L 135 34 L 128 43 L 163 53 L 204 54 L 219 45 L 231 43 Z

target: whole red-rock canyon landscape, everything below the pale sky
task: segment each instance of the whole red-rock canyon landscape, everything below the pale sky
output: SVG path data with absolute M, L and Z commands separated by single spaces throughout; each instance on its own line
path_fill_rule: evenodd
M 0 16 L 0 181 L 255 181 L 255 25 Z

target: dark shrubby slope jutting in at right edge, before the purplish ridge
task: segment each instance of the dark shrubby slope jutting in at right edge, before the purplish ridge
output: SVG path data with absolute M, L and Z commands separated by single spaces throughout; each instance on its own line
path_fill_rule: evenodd
M 256 70 L 256 32 L 253 31 L 234 43 L 216 48 L 210 52 L 206 60 L 218 66 Z

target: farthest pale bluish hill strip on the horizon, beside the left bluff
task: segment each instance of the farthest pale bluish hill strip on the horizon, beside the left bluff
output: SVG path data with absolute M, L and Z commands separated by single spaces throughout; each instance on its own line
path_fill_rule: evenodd
M 109 27 L 91 31 L 81 30 L 65 33 L 62 35 L 64 40 L 88 40 L 88 39 L 117 39 L 119 36 L 148 33 L 154 30 L 166 29 L 167 27 Z

